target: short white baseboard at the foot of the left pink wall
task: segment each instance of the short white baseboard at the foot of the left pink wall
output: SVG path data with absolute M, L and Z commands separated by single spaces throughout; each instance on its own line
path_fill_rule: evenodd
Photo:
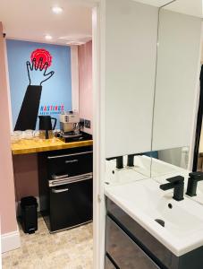
M 2 253 L 21 247 L 19 230 L 1 235 Z

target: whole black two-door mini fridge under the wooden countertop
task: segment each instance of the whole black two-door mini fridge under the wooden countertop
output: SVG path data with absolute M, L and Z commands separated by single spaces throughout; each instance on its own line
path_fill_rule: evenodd
M 40 210 L 50 232 L 92 221 L 93 147 L 38 153 Z

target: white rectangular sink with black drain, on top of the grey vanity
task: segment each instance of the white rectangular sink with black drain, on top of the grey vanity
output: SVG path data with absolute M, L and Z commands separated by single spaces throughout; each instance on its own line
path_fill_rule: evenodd
M 173 200 L 173 191 L 159 189 L 151 178 L 108 186 L 105 193 L 174 255 L 203 246 L 203 208 L 191 199 Z M 165 227 L 157 219 L 165 221 Z

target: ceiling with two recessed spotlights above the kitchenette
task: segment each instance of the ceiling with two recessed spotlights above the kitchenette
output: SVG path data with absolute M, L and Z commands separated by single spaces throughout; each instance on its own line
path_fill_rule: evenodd
M 53 13 L 55 5 L 63 7 L 63 13 Z M 87 42 L 91 39 L 91 1 L 1 0 L 0 22 L 9 39 L 62 45 Z M 47 41 L 47 34 L 53 39 Z

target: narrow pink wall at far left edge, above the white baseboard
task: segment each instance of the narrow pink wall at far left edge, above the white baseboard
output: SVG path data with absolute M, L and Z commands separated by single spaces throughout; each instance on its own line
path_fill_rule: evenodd
M 17 230 L 3 26 L 0 22 L 0 214 L 2 233 Z

